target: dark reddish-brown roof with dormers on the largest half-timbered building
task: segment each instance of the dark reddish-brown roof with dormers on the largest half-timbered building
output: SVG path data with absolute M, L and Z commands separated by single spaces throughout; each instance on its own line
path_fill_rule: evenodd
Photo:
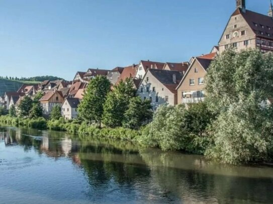
M 236 15 L 242 15 L 242 17 L 252 29 L 252 31 L 256 34 L 256 36 L 273 39 L 272 17 L 249 10 L 245 10 L 245 12 L 243 12 L 240 8 L 236 9 L 231 17 Z M 270 30 L 268 28 L 270 28 Z

